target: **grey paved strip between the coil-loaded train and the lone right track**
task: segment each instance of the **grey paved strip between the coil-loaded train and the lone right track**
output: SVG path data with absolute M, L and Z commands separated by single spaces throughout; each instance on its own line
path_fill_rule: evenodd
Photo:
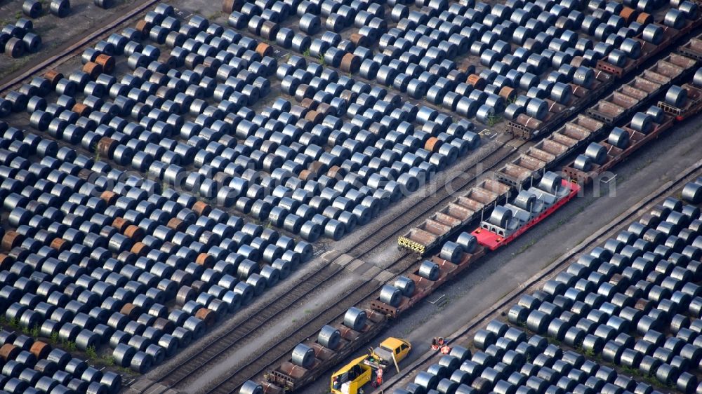
M 418 349 L 403 364 L 409 365 L 423 354 L 430 338 L 448 337 L 611 218 L 700 160 L 702 151 L 698 147 L 702 146 L 702 133 L 697 129 L 701 119 L 702 116 L 697 116 L 687 121 L 616 167 L 616 187 L 611 195 L 607 187 L 602 187 L 602 196 L 595 198 L 592 186 L 588 186 L 584 196 L 565 205 L 508 247 L 489 254 L 462 278 L 429 297 L 433 300 L 445 294 L 449 303 L 443 308 L 423 302 L 392 324 L 383 337 L 408 339 Z M 330 376 L 331 371 L 305 393 L 329 392 Z

